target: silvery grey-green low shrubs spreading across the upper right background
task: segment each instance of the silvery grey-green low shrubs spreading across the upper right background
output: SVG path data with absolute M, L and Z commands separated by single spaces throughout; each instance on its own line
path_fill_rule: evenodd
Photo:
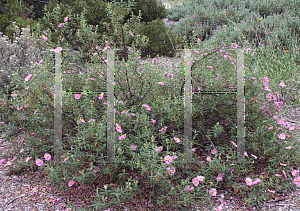
M 296 2 L 195 0 L 171 8 L 168 18 L 180 21 L 175 34 L 185 35 L 189 44 L 192 31 L 201 41 L 207 41 L 225 30 L 229 43 L 241 45 L 241 39 L 246 39 L 258 47 L 259 43 L 265 44 L 267 36 L 274 38 L 276 33 L 282 46 L 291 49 L 296 45 L 296 34 L 300 34 L 299 11 L 293 9 L 299 7 Z

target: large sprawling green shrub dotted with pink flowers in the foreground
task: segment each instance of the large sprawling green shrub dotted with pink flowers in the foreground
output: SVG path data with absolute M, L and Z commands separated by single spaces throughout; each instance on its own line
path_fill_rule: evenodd
M 117 18 L 113 11 L 112 13 Z M 115 27 L 117 28 L 117 25 Z M 128 30 L 127 36 L 131 36 L 131 33 L 134 33 L 134 41 L 145 41 L 133 30 Z M 204 47 L 203 49 L 211 47 L 199 41 L 196 45 L 199 48 Z M 211 82 L 212 88 L 230 83 L 229 79 L 224 79 L 222 82 L 223 79 L 220 76 L 228 77 L 227 68 L 232 67 L 230 64 L 236 64 L 234 54 L 229 56 L 225 51 L 226 47 L 236 46 L 237 44 L 230 47 L 223 46 L 222 51 L 211 58 L 211 63 L 204 66 L 208 70 L 214 68 L 214 72 L 206 71 L 204 74 L 201 71 L 203 67 L 201 69 L 199 66 L 194 66 L 193 77 L 195 80 L 199 79 L 199 86 L 193 86 L 193 91 L 201 90 L 205 86 L 201 79 Z M 54 44 L 52 47 L 54 52 L 64 52 L 66 49 L 54 46 Z M 65 74 L 69 71 L 70 74 L 63 76 L 64 90 L 71 89 L 73 84 L 76 90 L 99 90 L 99 87 L 105 87 L 107 74 L 104 72 L 105 66 L 100 66 L 100 64 L 107 63 L 106 50 L 115 46 L 97 47 L 96 54 L 92 58 L 95 67 L 91 65 L 81 67 L 80 70 L 69 71 L 68 68 L 62 66 L 62 71 L 65 71 Z M 133 49 L 135 50 L 135 47 Z M 292 86 L 293 82 L 289 76 L 278 74 L 279 70 L 274 70 L 275 63 L 270 62 L 269 71 L 266 71 L 263 66 L 265 58 L 261 57 L 262 53 L 253 51 L 253 54 L 244 54 L 245 66 L 250 69 L 250 74 L 245 76 L 247 87 L 245 114 L 246 120 L 250 119 L 245 123 L 245 159 L 250 163 L 240 164 L 240 166 L 229 164 L 236 158 L 235 148 L 239 144 L 235 143 L 234 137 L 236 131 L 233 123 L 236 110 L 222 111 L 222 105 L 227 99 L 216 100 L 211 95 L 205 101 L 200 97 L 193 99 L 192 114 L 195 114 L 193 122 L 198 123 L 212 116 L 210 126 L 213 129 L 203 131 L 201 127 L 197 127 L 200 132 L 197 130 L 194 132 L 191 149 L 195 162 L 185 164 L 182 154 L 185 139 L 183 134 L 179 133 L 183 129 L 184 107 L 180 104 L 182 103 L 180 90 L 176 90 L 175 87 L 182 82 L 180 79 L 184 78 L 183 73 L 178 73 L 177 77 L 166 77 L 166 68 L 158 64 L 156 59 L 153 59 L 150 64 L 141 66 L 138 60 L 139 53 L 131 54 L 128 63 L 115 64 L 116 80 L 114 83 L 117 87 L 115 89 L 117 103 L 114 107 L 115 147 L 117 148 L 116 160 L 121 161 L 120 167 L 107 166 L 104 163 L 107 152 L 105 112 L 108 106 L 105 98 L 107 95 L 104 92 L 92 96 L 78 93 L 63 95 L 62 113 L 68 115 L 63 117 L 62 128 L 69 129 L 70 133 L 66 133 L 63 137 L 64 150 L 60 165 L 50 162 L 55 156 L 53 130 L 49 126 L 53 123 L 53 117 L 49 115 L 45 118 L 39 113 L 43 107 L 38 103 L 45 106 L 53 105 L 53 98 L 51 98 L 54 94 L 51 88 L 53 81 L 49 77 L 38 75 L 43 75 L 48 68 L 50 69 L 48 65 L 52 61 L 50 57 L 40 63 L 42 64 L 40 71 L 32 68 L 32 72 L 21 82 L 13 80 L 24 88 L 13 92 L 10 101 L 1 101 L 9 105 L 6 110 L 12 109 L 16 118 L 23 118 L 23 116 L 29 118 L 28 124 L 22 126 L 34 130 L 37 136 L 26 137 L 22 150 L 15 151 L 0 163 L 7 166 L 11 172 L 14 171 L 14 164 L 22 168 L 43 168 L 52 181 L 70 192 L 81 185 L 95 184 L 93 190 L 96 190 L 96 196 L 93 196 L 95 200 L 92 206 L 99 209 L 108 209 L 112 206 L 115 208 L 122 203 L 133 201 L 133 194 L 139 193 L 143 188 L 147 191 L 148 198 L 155 199 L 156 209 L 174 210 L 180 207 L 182 210 L 187 210 L 196 205 L 203 208 L 207 206 L 205 202 L 208 200 L 222 196 L 220 187 L 223 185 L 233 188 L 235 193 L 245 198 L 247 206 L 253 206 L 257 201 L 262 201 L 266 194 L 300 184 L 299 154 L 297 153 L 299 142 L 294 141 L 290 133 L 295 128 L 276 114 L 280 103 L 276 91 L 285 90 L 288 85 Z M 271 55 L 271 52 L 268 52 L 268 55 Z M 96 63 L 96 56 L 98 63 Z M 201 56 L 205 56 L 205 53 L 194 51 L 191 63 L 199 61 Z M 252 68 L 253 56 L 255 56 L 256 64 L 262 67 L 261 71 L 255 71 L 255 68 Z M 64 57 L 62 57 L 63 61 L 66 59 Z M 221 60 L 219 57 L 224 59 L 221 64 L 218 64 Z M 288 63 L 294 62 L 291 58 L 285 58 L 280 54 L 276 59 L 283 64 L 283 69 L 288 69 Z M 296 74 L 296 71 L 291 74 Z M 231 75 L 234 76 L 234 74 Z M 103 79 L 104 85 L 100 82 L 94 83 L 96 79 L 98 81 Z M 34 94 L 40 98 L 36 99 Z M 299 97 L 295 99 L 299 100 Z M 89 108 L 88 112 L 86 108 Z M 216 114 L 212 115 L 210 111 L 203 108 L 214 108 Z M 95 113 L 97 115 L 93 116 L 92 114 Z M 202 115 L 197 116 L 196 113 Z M 216 119 L 215 116 L 220 114 L 227 116 L 229 120 L 221 122 L 220 116 Z M 6 125 L 7 119 L 4 118 L 2 121 L 0 126 Z M 277 128 L 277 124 L 282 127 Z M 231 130 L 228 131 L 228 129 Z M 209 131 L 214 135 L 211 136 Z M 234 135 L 226 138 L 220 137 L 221 134 L 225 134 L 224 131 Z M 202 132 L 204 136 L 197 137 Z M 223 141 L 222 144 L 221 141 Z M 262 165 L 261 168 L 257 168 L 258 165 Z M 276 180 L 271 180 L 274 178 Z M 114 187 L 112 184 L 116 182 L 119 184 Z M 281 186 L 279 187 L 278 184 Z M 247 197 L 246 194 L 248 194 Z M 220 206 L 218 209 L 221 209 Z

